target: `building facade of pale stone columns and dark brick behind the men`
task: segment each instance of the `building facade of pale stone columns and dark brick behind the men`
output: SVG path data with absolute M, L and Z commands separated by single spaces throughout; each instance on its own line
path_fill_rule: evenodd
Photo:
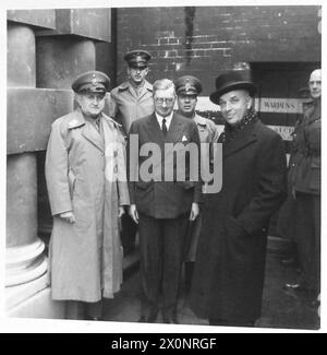
M 51 122 L 73 109 L 72 80 L 100 70 L 125 80 L 123 55 L 146 49 L 148 80 L 193 74 L 198 113 L 221 125 L 208 95 L 227 69 L 258 86 L 261 119 L 287 151 L 302 111 L 299 88 L 322 61 L 322 9 L 302 7 L 120 8 L 8 11 L 7 252 L 10 316 L 61 318 L 47 283 L 51 215 L 44 177 Z

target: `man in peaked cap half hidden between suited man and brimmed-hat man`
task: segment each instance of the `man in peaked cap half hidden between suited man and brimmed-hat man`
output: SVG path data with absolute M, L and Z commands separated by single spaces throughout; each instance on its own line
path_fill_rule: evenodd
M 214 144 L 218 141 L 218 129 L 216 125 L 195 113 L 195 107 L 197 104 L 197 95 L 202 92 L 201 81 L 192 75 L 184 75 L 179 78 L 175 83 L 175 92 L 177 92 L 177 102 L 179 110 L 178 113 L 184 117 L 193 119 L 198 129 L 198 135 L 201 143 L 209 144 L 209 150 L 202 150 L 201 157 L 202 162 L 206 164 L 204 161 L 209 159 L 211 163 L 214 159 Z M 209 152 L 209 154 L 208 154 Z M 205 166 L 208 166 L 206 164 Z M 193 265 L 195 261 L 196 255 L 196 246 L 202 226 L 202 213 L 197 216 L 194 222 L 190 222 L 189 228 L 189 238 L 187 242 L 190 242 L 190 249 L 186 251 L 185 259 L 185 286 L 186 291 L 190 289 L 191 280 L 193 275 Z

